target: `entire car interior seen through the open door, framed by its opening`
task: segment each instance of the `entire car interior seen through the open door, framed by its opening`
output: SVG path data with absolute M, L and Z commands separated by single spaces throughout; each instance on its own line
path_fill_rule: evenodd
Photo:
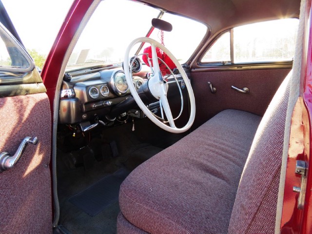
M 279 231 L 305 7 L 95 0 L 47 130 L 54 233 Z

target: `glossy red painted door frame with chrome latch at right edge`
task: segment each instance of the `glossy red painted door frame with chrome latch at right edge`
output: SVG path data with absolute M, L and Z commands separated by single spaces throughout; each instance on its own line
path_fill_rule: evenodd
M 301 62 L 300 93 L 292 114 L 291 137 L 284 190 L 281 233 L 312 233 L 312 173 L 308 169 L 305 205 L 298 209 L 298 193 L 292 187 L 300 187 L 301 176 L 295 174 L 296 160 L 307 162 L 312 168 L 311 158 L 311 117 L 312 117 L 312 8 L 311 0 L 307 0 L 304 20 L 303 53 Z

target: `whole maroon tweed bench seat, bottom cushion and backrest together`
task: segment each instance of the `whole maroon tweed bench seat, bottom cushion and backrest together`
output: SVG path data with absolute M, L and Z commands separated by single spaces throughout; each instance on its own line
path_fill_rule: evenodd
M 120 187 L 117 233 L 274 233 L 291 77 L 260 123 L 223 111 L 137 167 Z

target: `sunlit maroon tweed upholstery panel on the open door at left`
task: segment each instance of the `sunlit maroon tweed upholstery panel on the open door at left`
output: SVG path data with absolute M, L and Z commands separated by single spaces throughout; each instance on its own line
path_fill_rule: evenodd
M 0 174 L 0 233 L 52 233 L 51 114 L 46 94 L 0 98 L 0 152 L 14 155 L 24 137 L 38 137 Z

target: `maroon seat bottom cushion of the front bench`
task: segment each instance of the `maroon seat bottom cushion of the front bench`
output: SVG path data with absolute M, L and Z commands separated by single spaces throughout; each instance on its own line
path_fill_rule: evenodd
M 138 166 L 122 183 L 122 215 L 149 233 L 227 233 L 261 117 L 226 110 Z

